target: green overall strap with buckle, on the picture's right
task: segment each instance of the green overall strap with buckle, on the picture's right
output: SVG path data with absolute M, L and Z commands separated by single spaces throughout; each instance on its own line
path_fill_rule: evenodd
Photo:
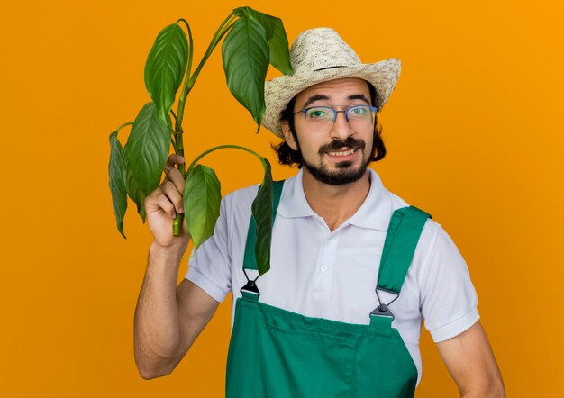
M 378 270 L 376 294 L 380 305 L 371 313 L 372 315 L 394 318 L 392 312 L 387 309 L 387 305 L 394 302 L 399 296 L 414 258 L 417 242 L 428 218 L 432 218 L 432 215 L 414 206 L 396 209 L 392 214 Z M 396 294 L 396 298 L 389 303 L 382 303 L 378 291 Z

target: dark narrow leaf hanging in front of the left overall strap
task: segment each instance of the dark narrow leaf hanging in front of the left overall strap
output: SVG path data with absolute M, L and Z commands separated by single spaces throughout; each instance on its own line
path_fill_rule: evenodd
M 274 200 L 274 186 L 270 163 L 266 158 L 260 162 L 264 167 L 264 179 L 259 187 L 259 193 L 252 202 L 252 216 L 257 223 L 257 243 L 255 256 L 259 267 L 259 275 L 270 269 L 270 244 L 272 240 L 272 201 Z

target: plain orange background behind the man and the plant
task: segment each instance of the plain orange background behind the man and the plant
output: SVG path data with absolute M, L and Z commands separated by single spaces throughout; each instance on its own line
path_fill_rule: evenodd
M 432 213 L 466 258 L 508 395 L 559 396 L 563 3 L 281 3 L 247 5 L 281 17 L 290 41 L 330 25 L 364 61 L 403 60 L 380 116 L 388 155 L 374 168 L 392 192 Z M 238 5 L 2 6 L 0 395 L 223 395 L 229 300 L 173 375 L 144 381 L 137 374 L 132 317 L 150 231 L 131 202 L 128 239 L 115 228 L 108 135 L 149 101 L 143 66 L 157 33 L 185 17 L 199 60 Z M 210 106 L 221 106 L 223 117 L 206 119 Z M 253 133 L 224 84 L 218 50 L 186 108 L 188 158 L 236 143 L 276 164 L 269 144 L 277 140 Z M 258 163 L 242 152 L 223 151 L 206 164 L 223 194 L 260 180 Z M 275 178 L 293 173 L 274 166 Z M 455 396 L 426 331 L 422 349 L 417 396 Z

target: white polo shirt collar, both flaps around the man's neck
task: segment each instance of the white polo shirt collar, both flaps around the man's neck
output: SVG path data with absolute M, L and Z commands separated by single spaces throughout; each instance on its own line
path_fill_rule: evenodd
M 299 170 L 295 177 L 287 180 L 282 192 L 282 198 L 277 208 L 277 214 L 287 217 L 314 216 L 314 210 L 305 199 L 304 186 L 302 185 L 303 170 Z M 376 171 L 368 168 L 370 190 L 364 203 L 357 213 L 350 217 L 348 223 L 360 228 L 387 231 L 392 212 L 390 193 L 382 184 Z

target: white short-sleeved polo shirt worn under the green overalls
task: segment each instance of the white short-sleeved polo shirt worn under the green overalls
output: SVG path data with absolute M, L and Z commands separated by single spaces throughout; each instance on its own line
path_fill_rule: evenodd
M 260 302 L 309 317 L 369 323 L 369 313 L 378 306 L 375 288 L 387 225 L 396 209 L 409 204 L 368 170 L 370 190 L 364 204 L 335 231 L 307 203 L 302 170 L 284 183 L 272 231 L 270 270 L 257 281 Z M 230 292 L 233 299 L 240 297 L 247 282 L 242 259 L 250 205 L 258 189 L 253 185 L 223 198 L 214 236 L 190 260 L 186 278 L 218 302 Z M 417 366 L 418 383 L 422 319 L 432 339 L 440 342 L 478 321 L 477 304 L 459 250 L 439 223 L 428 220 L 399 298 L 389 307 L 396 316 L 392 326 Z

